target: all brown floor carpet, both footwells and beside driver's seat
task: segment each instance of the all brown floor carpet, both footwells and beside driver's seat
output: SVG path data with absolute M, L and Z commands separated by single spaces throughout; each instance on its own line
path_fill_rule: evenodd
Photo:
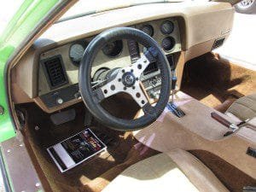
M 256 90 L 256 72 L 237 67 L 227 61 L 220 61 L 216 55 L 202 55 L 186 64 L 181 90 L 212 108 L 227 99 L 230 99 L 228 102 L 230 105 L 236 98 L 247 96 Z M 131 119 L 137 112 L 137 106 L 129 100 L 123 101 L 116 96 L 103 104 L 108 109 L 111 106 L 112 113 L 118 114 L 119 117 Z M 23 131 L 26 136 L 26 146 L 30 150 L 29 153 L 42 183 L 48 188 L 47 191 L 52 189 L 53 191 L 99 192 L 128 166 L 158 154 L 157 151 L 147 148 L 142 143 L 137 143 L 131 132 L 113 131 L 93 121 L 91 129 L 96 134 L 103 133 L 103 135 L 112 137 L 117 144 L 108 146 L 107 153 L 61 174 L 49 158 L 46 148 L 84 130 L 84 104 L 81 102 L 72 107 L 76 110 L 76 119 L 57 126 L 49 120 L 49 114 L 44 113 L 35 103 L 17 107 L 26 111 L 26 128 Z M 35 129 L 36 126 L 37 129 Z M 199 159 L 204 159 L 202 156 L 206 156 L 197 152 L 193 153 Z M 205 158 L 205 162 L 202 161 L 231 191 L 239 191 L 241 185 L 249 181 L 248 178 L 246 182 L 232 183 L 229 175 L 224 174 L 217 167 L 223 166 L 221 160 L 208 157 L 209 155 Z M 232 170 L 229 165 L 226 168 Z M 241 175 L 240 173 L 236 171 L 238 176 Z M 229 174 L 233 173 L 230 171 Z

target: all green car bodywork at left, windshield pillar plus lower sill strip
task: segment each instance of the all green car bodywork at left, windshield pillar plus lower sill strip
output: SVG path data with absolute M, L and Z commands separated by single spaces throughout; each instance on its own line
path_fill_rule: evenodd
M 9 109 L 7 89 L 8 65 L 27 43 L 38 26 L 44 26 L 44 19 L 49 13 L 61 6 L 63 0 L 24 0 L 20 9 L 9 20 L 8 26 L 0 36 L 0 143 L 15 137 L 15 124 Z M 1 145 L 0 145 L 1 147 Z M 0 166 L 3 180 L 8 185 L 7 191 L 14 191 L 12 179 L 9 175 L 7 162 L 0 148 Z M 7 186 L 6 186 L 7 187 Z

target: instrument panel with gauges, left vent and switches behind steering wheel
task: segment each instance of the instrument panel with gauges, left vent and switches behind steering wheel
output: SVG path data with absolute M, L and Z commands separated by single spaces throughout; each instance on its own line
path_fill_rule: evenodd
M 181 51 L 181 38 L 176 18 L 153 20 L 129 27 L 137 28 L 154 38 L 166 55 L 170 55 L 168 56 L 170 61 L 173 60 L 172 54 Z M 49 49 L 40 55 L 38 96 L 47 108 L 55 108 L 80 99 L 79 63 L 92 38 L 79 39 L 55 49 Z M 94 79 L 114 67 L 131 65 L 140 58 L 144 49 L 142 45 L 131 39 L 120 39 L 105 45 L 96 56 L 91 78 Z M 148 66 L 141 80 L 148 96 L 155 99 L 157 91 L 160 90 L 160 72 L 156 62 Z

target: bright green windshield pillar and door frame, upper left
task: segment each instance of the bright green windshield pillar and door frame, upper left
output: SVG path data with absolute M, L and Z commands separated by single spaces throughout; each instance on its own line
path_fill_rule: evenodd
M 25 0 L 0 37 L 0 142 L 15 137 L 6 91 L 6 67 L 11 56 L 59 0 Z

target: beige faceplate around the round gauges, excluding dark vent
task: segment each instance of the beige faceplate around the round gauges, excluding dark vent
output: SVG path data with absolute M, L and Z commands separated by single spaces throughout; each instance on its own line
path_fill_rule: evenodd
M 164 32 L 161 32 L 161 26 L 165 25 L 165 23 L 172 24 L 172 29 L 170 32 L 167 32 L 165 34 Z M 148 29 L 152 30 L 150 35 L 152 38 L 154 38 L 158 44 L 163 44 L 162 42 L 165 40 L 168 40 L 167 38 L 172 38 L 173 42 L 172 47 L 170 49 L 164 49 L 166 55 L 172 54 L 178 51 L 181 51 L 181 42 L 180 42 L 180 36 L 179 36 L 179 28 L 177 25 L 177 20 L 173 18 L 167 18 L 164 20 L 154 20 L 149 21 L 146 23 L 138 24 L 135 26 L 137 29 L 143 30 L 143 27 L 147 27 Z M 146 29 L 145 29 L 146 30 Z M 60 47 L 57 47 L 55 49 L 50 49 L 46 52 L 43 52 L 39 57 L 39 73 L 38 73 L 38 96 L 42 96 L 46 93 L 49 93 L 50 91 L 58 90 L 63 87 L 67 87 L 71 84 L 77 84 L 78 83 L 78 73 L 79 73 L 79 67 L 76 63 L 74 63 L 71 59 L 70 52 L 73 48 L 73 45 L 82 45 L 84 44 L 84 49 L 86 48 L 86 44 L 90 43 L 90 40 L 92 38 L 84 38 L 84 39 L 78 39 L 74 42 L 62 45 Z M 83 46 L 83 45 L 82 45 Z M 143 52 L 143 47 L 139 47 L 139 51 Z M 62 64 L 62 67 L 64 68 L 64 73 L 67 76 L 66 84 L 59 86 L 52 86 L 49 81 L 49 76 L 46 70 L 44 70 L 44 61 L 52 61 L 52 59 L 55 59 L 55 56 L 60 57 L 60 61 Z M 83 55 L 83 52 L 81 52 L 81 56 Z M 131 64 L 131 58 L 129 53 L 129 48 L 127 45 L 126 40 L 122 40 L 122 46 L 120 48 L 118 55 L 106 55 L 101 50 L 98 55 L 96 56 L 96 61 L 94 62 L 94 67 L 92 67 L 92 76 L 96 73 L 97 70 L 100 68 L 106 67 L 106 68 L 114 68 L 114 67 L 127 67 Z

